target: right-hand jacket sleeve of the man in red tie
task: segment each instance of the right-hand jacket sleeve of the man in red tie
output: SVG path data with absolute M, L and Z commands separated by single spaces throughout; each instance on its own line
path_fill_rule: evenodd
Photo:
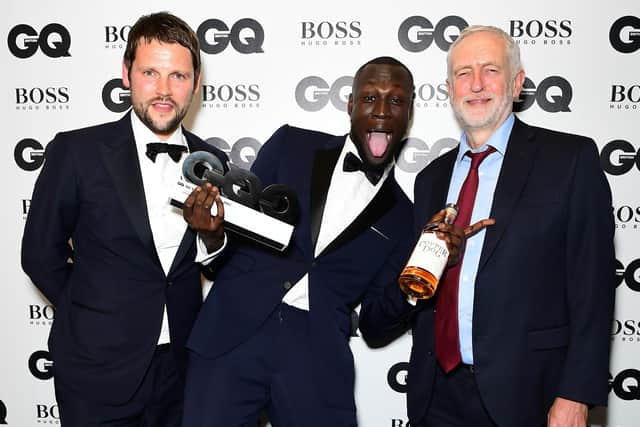
M 580 144 L 567 228 L 570 341 L 558 396 L 607 404 L 615 299 L 611 190 L 593 141 Z

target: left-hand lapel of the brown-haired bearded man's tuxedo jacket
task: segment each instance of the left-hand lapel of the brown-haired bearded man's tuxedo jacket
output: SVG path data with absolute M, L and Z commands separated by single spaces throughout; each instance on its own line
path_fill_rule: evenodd
M 133 228 L 157 258 L 129 114 L 116 122 L 111 135 L 105 135 L 100 153 Z

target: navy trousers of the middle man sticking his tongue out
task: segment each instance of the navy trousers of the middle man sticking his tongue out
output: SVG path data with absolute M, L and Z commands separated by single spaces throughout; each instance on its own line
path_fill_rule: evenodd
M 353 409 L 323 403 L 311 352 L 309 313 L 284 303 L 230 352 L 190 352 L 184 427 L 255 427 L 261 411 L 274 427 L 355 427 Z

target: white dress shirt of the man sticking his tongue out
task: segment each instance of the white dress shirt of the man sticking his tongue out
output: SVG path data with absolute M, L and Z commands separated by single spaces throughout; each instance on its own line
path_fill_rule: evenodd
M 380 181 L 373 185 L 364 173 L 360 171 L 345 172 L 342 169 L 344 158 L 349 152 L 360 158 L 351 137 L 347 135 L 344 147 L 331 175 L 331 183 L 329 184 L 318 241 L 314 251 L 315 257 L 329 246 L 367 207 L 369 202 L 378 194 L 393 167 L 393 163 L 387 165 Z M 308 273 L 285 294 L 282 301 L 302 310 L 308 311 L 310 309 Z

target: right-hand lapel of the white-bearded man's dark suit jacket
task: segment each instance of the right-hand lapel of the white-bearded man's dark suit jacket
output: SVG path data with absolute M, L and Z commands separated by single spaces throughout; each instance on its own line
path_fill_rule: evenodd
M 478 271 L 486 264 L 500 242 L 502 234 L 509 226 L 513 209 L 520 200 L 538 150 L 534 137 L 533 128 L 516 119 L 493 196 L 490 217 L 494 218 L 496 223 L 487 228 Z

